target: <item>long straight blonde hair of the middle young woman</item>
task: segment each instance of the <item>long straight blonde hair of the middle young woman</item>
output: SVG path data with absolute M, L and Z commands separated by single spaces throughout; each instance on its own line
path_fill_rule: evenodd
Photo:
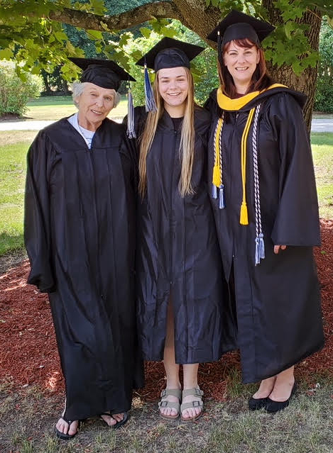
M 185 113 L 182 120 L 182 132 L 180 135 L 179 158 L 182 161 L 182 171 L 180 174 L 179 191 L 181 196 L 193 194 L 191 184 L 192 167 L 195 154 L 195 120 L 194 120 L 194 83 L 190 69 L 184 68 L 187 75 L 188 94 L 185 100 Z M 153 83 L 153 93 L 157 111 L 149 112 L 145 128 L 139 139 L 140 142 L 140 157 L 138 160 L 138 191 L 143 197 L 147 186 L 147 155 L 151 150 L 151 145 L 155 137 L 155 132 L 158 126 L 158 121 L 163 115 L 164 104 L 163 98 L 160 96 L 158 89 L 158 72 L 156 72 L 155 81 Z

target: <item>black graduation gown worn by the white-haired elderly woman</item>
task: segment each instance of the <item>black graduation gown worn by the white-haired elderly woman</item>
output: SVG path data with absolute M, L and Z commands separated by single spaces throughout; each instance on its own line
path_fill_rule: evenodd
M 141 386 L 134 296 L 135 161 L 105 119 L 91 150 L 66 118 L 28 151 L 28 283 L 48 292 L 66 385 L 65 418 L 131 408 Z

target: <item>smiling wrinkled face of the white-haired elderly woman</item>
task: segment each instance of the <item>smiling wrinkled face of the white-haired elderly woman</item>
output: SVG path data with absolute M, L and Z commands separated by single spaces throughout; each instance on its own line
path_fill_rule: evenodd
M 114 89 L 85 82 L 83 93 L 75 99 L 79 108 L 80 126 L 88 130 L 97 130 L 114 106 L 115 97 Z

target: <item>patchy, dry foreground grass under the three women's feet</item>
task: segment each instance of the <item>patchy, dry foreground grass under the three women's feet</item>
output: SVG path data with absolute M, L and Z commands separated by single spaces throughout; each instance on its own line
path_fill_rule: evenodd
M 315 393 L 300 389 L 290 406 L 276 415 L 250 412 L 249 386 L 239 396 L 219 403 L 204 400 L 196 423 L 163 420 L 156 403 L 133 399 L 131 418 L 111 430 L 88 419 L 70 442 L 55 439 L 53 427 L 63 405 L 61 394 L 29 386 L 2 392 L 0 450 L 4 453 L 332 453 L 332 379 L 322 378 Z M 15 409 L 14 409 L 15 408 Z M 2 432 L 1 432 L 2 431 Z M 2 447 L 2 449 L 1 449 Z

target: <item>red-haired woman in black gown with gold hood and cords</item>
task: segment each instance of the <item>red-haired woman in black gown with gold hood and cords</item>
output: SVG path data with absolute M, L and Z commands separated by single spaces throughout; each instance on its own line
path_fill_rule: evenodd
M 295 393 L 294 365 L 324 340 L 306 97 L 268 74 L 261 40 L 271 31 L 269 23 L 231 11 L 210 33 L 220 86 L 206 108 L 208 177 L 243 381 L 261 381 L 249 408 L 273 413 Z

